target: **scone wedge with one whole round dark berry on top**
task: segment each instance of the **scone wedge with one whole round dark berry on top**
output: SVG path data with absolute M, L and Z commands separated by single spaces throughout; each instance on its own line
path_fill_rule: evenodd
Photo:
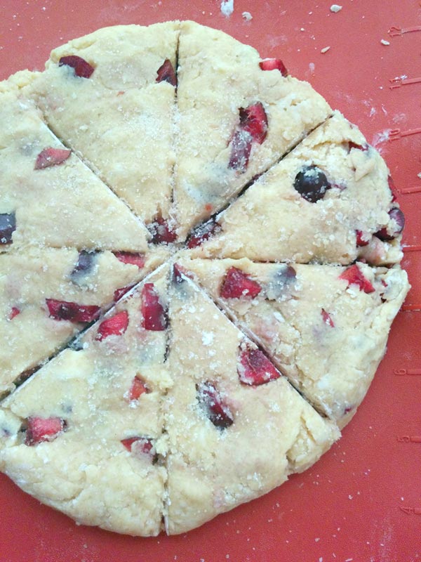
M 404 217 L 388 173 L 359 129 L 335 112 L 216 217 L 198 255 L 398 263 Z

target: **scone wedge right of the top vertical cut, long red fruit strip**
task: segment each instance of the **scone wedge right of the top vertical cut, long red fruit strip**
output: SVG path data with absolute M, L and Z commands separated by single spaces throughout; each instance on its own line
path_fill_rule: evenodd
M 180 234 L 224 207 L 330 114 L 307 82 L 262 70 L 260 55 L 182 22 L 175 212 Z

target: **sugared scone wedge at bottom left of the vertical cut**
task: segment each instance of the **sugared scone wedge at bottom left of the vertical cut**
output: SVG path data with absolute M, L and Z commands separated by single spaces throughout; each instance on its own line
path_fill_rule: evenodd
M 165 267 L 147 282 L 166 308 Z M 158 535 L 166 481 L 167 336 L 144 327 L 145 284 L 0 408 L 2 471 L 78 523 L 128 535 Z

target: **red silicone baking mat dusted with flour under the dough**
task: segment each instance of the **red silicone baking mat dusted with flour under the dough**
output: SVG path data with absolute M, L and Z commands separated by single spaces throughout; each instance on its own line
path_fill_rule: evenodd
M 234 0 L 229 17 L 220 4 L 0 2 L 0 78 L 41 69 L 51 48 L 98 27 L 175 18 L 217 27 L 262 56 L 282 58 L 359 124 L 399 188 L 408 221 L 403 263 L 413 289 L 394 322 L 387 356 L 342 439 L 316 466 L 187 535 L 138 539 L 78 527 L 1 476 L 1 562 L 421 559 L 421 3 L 342 0 L 333 13 L 331 1 Z M 392 26 L 398 28 L 393 37 Z

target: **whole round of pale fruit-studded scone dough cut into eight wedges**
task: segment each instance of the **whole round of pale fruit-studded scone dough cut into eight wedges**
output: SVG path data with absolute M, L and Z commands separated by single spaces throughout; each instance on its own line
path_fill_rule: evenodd
M 261 60 L 195 22 L 127 25 L 0 82 L 0 470 L 78 523 L 177 534 L 265 494 L 340 437 L 385 353 L 408 292 L 387 166 Z M 231 268 L 260 292 L 222 296 Z

